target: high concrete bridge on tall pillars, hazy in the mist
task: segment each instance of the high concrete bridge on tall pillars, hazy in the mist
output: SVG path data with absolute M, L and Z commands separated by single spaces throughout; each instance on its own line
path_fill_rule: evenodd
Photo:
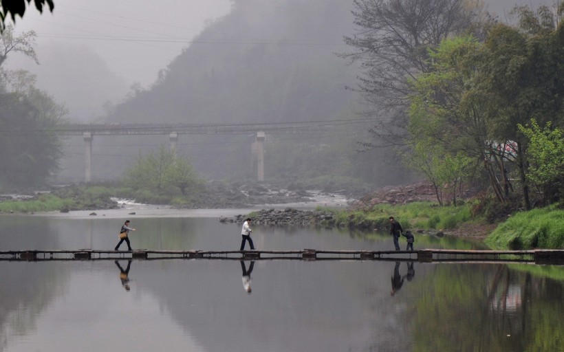
M 169 135 L 171 151 L 176 152 L 178 135 L 211 135 L 256 133 L 252 154 L 257 160 L 257 177 L 264 181 L 264 142 L 266 133 L 320 133 L 338 126 L 373 122 L 369 119 L 347 119 L 309 122 L 254 124 L 67 124 L 56 129 L 58 135 L 82 135 L 85 142 L 85 181 L 91 181 L 92 140 L 94 135 Z

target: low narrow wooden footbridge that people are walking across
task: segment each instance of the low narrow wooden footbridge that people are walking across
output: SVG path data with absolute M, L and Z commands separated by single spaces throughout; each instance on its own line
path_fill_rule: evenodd
M 564 265 L 564 250 L 9 250 L 0 251 L 0 261 L 74 261 L 108 259 L 231 259 L 305 261 L 420 261 L 420 262 L 525 262 Z

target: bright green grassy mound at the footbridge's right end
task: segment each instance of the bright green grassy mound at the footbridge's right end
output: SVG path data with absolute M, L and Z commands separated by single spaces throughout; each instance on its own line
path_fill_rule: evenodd
M 564 210 L 550 206 L 517 212 L 501 223 L 486 243 L 493 248 L 564 248 Z

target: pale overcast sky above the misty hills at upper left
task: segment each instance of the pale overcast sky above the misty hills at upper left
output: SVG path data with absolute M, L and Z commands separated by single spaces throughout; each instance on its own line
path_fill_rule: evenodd
M 17 34 L 34 30 L 38 47 L 72 43 L 98 54 L 128 85 L 147 87 L 230 0 L 55 0 L 53 13 L 28 8 Z M 38 50 L 39 51 L 39 50 Z M 38 52 L 41 61 L 41 52 Z M 20 58 L 18 58 L 20 59 Z

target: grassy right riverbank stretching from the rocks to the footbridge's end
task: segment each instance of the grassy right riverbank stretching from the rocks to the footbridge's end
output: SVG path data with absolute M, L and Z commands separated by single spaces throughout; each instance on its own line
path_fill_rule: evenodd
M 404 230 L 442 231 L 457 236 L 485 239 L 497 249 L 563 249 L 564 210 L 558 205 L 512 214 L 506 221 L 490 223 L 478 213 L 476 203 L 463 206 L 437 206 L 433 202 L 405 205 L 376 205 L 369 211 L 331 210 L 335 223 L 349 228 L 384 230 L 393 216 Z

